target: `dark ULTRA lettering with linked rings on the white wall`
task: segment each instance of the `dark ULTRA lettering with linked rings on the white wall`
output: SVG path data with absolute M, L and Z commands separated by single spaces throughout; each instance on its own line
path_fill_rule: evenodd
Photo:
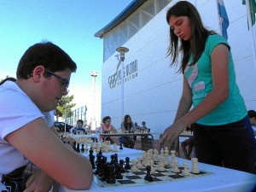
M 108 84 L 110 89 L 113 89 L 116 85 L 122 84 L 137 78 L 137 60 L 132 61 L 124 67 L 123 78 L 121 70 L 119 69 L 116 73 L 113 73 L 108 77 Z

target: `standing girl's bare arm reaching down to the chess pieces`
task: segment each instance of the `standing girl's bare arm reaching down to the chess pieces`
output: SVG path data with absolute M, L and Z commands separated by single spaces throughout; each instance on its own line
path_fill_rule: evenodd
M 229 49 L 225 44 L 218 44 L 212 50 L 212 91 L 193 108 L 189 113 L 185 113 L 188 108 L 178 108 L 175 123 L 169 126 L 161 137 L 172 143 L 173 140 L 183 131 L 185 127 L 191 125 L 196 120 L 201 119 L 213 109 L 217 108 L 229 96 Z M 191 95 L 192 96 L 192 95 Z M 191 102 L 192 103 L 192 102 Z M 181 104 L 181 103 L 180 103 Z M 186 105 L 183 105 L 186 106 Z M 189 107 L 189 106 L 187 106 Z

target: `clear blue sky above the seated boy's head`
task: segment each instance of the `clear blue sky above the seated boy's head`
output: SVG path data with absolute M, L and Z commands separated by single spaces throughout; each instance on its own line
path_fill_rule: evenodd
M 91 71 L 99 72 L 101 88 L 102 45 L 94 34 L 124 10 L 132 0 L 1 0 L 0 79 L 15 77 L 21 55 L 32 44 L 48 40 L 64 49 L 78 65 L 70 94 L 77 107 L 90 97 Z

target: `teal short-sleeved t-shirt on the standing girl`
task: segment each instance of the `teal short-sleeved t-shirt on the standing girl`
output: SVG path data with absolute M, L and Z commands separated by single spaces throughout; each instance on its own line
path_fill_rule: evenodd
M 218 35 L 210 35 L 204 52 L 194 66 L 187 66 L 184 71 L 186 79 L 192 89 L 193 107 L 195 108 L 212 90 L 212 50 L 218 44 L 226 44 L 230 49 L 226 40 Z M 189 63 L 192 61 L 192 57 Z M 196 121 L 201 125 L 224 125 L 243 119 L 247 115 L 247 108 L 241 96 L 240 90 L 236 84 L 236 73 L 231 53 L 229 54 L 229 83 L 230 94 L 228 98 L 222 102 L 211 113 Z

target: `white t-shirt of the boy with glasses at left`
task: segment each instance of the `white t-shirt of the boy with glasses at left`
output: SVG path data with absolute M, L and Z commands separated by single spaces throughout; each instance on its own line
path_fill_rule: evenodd
M 4 137 L 38 118 L 44 118 L 44 114 L 15 82 L 0 86 L 0 177 L 29 161 Z

